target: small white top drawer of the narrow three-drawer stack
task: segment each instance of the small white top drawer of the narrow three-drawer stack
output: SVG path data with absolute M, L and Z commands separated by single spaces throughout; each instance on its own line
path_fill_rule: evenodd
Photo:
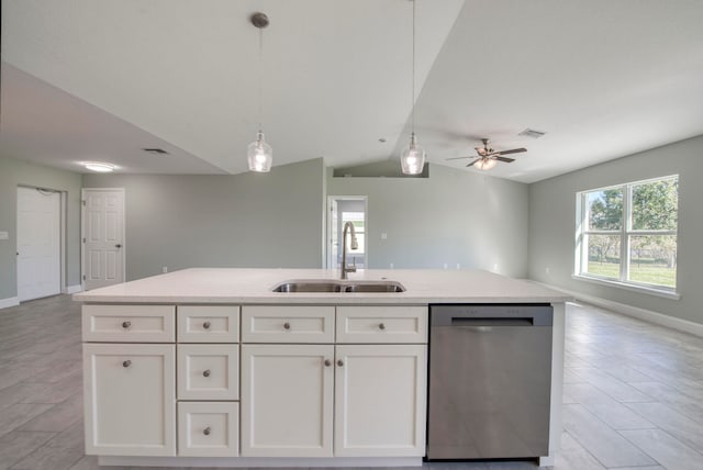
M 179 343 L 239 343 L 236 305 L 179 305 Z

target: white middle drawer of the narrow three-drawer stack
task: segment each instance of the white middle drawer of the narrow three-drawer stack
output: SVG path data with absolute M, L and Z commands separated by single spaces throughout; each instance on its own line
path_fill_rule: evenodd
M 178 345 L 178 400 L 238 400 L 238 345 Z

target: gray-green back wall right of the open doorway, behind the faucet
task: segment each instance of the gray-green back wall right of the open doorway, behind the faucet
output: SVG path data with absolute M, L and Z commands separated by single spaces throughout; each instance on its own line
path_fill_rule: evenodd
M 527 184 L 432 165 L 429 178 L 328 176 L 327 194 L 368 195 L 369 268 L 527 275 Z

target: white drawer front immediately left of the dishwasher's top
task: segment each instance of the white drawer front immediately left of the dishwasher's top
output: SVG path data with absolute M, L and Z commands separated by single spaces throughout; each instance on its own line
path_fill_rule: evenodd
M 337 343 L 427 343 L 426 306 L 338 306 Z

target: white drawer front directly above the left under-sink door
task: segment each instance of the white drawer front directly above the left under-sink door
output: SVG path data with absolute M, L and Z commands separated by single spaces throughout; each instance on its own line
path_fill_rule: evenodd
M 242 343 L 334 343 L 334 306 L 243 306 Z

